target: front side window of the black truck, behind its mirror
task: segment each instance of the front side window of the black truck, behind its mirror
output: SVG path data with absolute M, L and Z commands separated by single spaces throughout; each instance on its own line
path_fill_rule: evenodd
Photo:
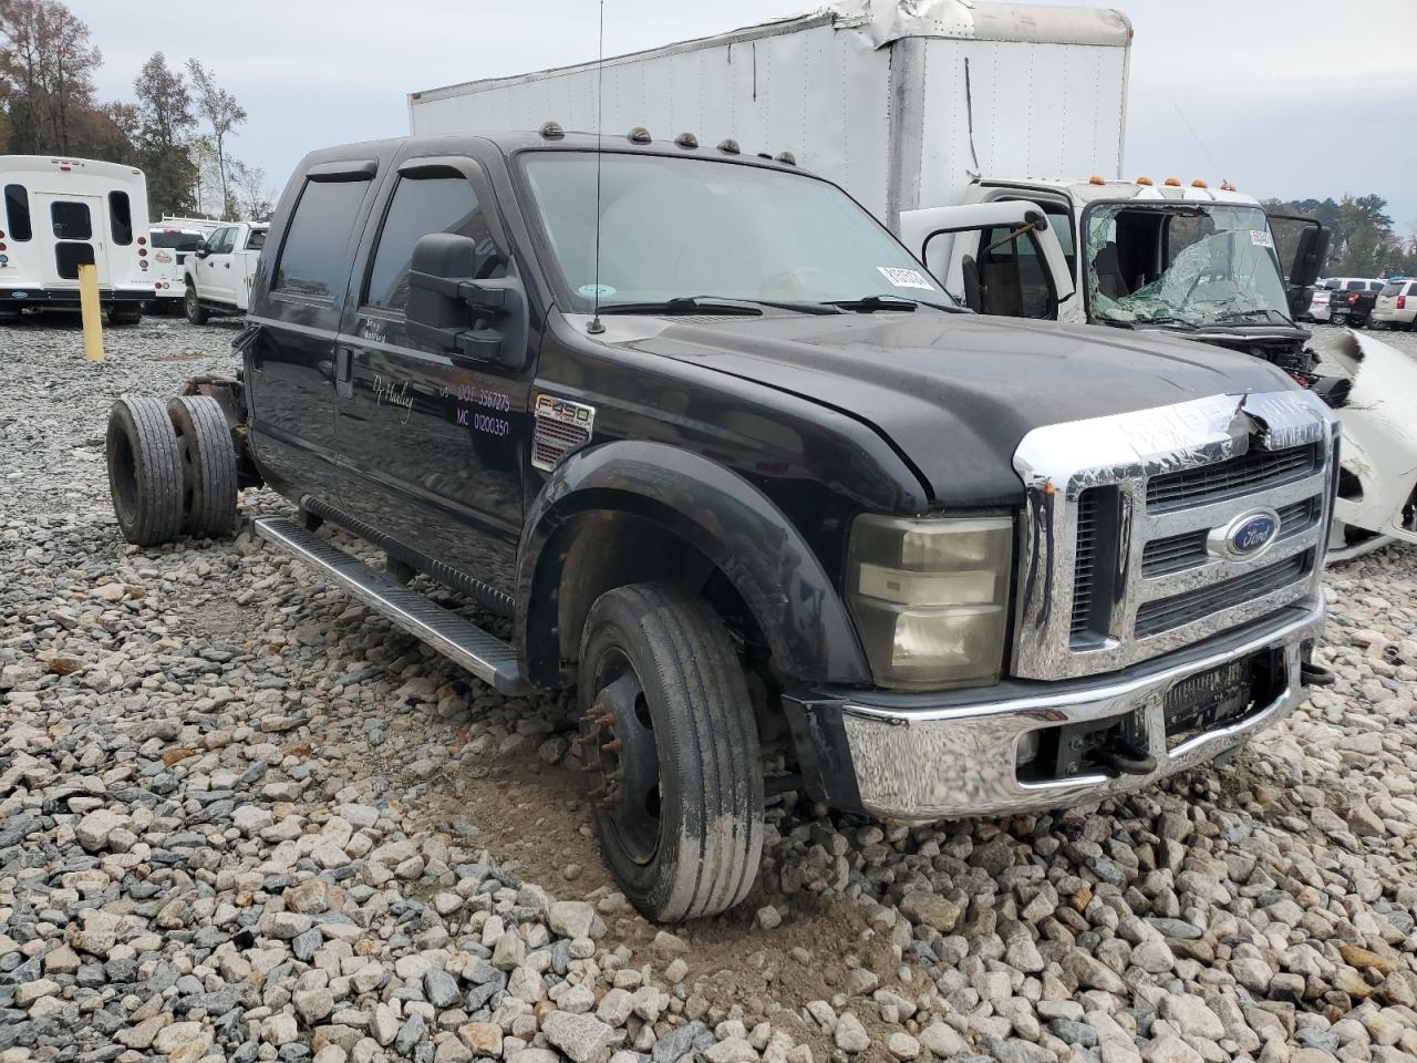
M 506 276 L 487 221 L 466 177 L 400 177 L 364 286 L 366 306 L 402 310 L 408 305 L 408 266 L 414 244 L 429 232 L 472 237 L 478 241 L 478 278 Z

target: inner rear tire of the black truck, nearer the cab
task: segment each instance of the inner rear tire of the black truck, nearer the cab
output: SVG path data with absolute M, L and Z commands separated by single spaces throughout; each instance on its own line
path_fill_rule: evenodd
M 183 532 L 221 539 L 237 523 L 237 448 L 221 404 L 210 395 L 169 400 L 183 469 Z

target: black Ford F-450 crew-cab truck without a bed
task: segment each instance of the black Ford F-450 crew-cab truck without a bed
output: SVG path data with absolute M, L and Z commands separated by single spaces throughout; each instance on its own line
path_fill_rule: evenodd
M 499 690 L 574 686 L 605 859 L 655 920 L 748 894 L 765 789 L 905 821 L 1098 799 L 1321 672 L 1318 398 L 961 310 L 786 156 L 555 126 L 316 152 L 235 349 L 115 405 L 123 533 L 230 533 L 265 483 L 299 510 L 269 543 Z

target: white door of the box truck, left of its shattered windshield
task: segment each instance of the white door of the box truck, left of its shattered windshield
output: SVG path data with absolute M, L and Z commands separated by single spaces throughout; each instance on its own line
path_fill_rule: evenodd
M 1067 258 L 1036 203 L 903 211 L 900 234 L 945 291 L 979 313 L 1054 319 L 1073 295 Z

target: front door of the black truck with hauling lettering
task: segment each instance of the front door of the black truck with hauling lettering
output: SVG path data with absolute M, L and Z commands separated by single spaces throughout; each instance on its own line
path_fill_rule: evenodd
M 490 184 L 468 157 L 407 159 L 380 210 L 350 292 L 359 308 L 336 350 L 336 431 L 357 473 L 344 507 L 510 594 L 531 371 L 434 349 L 410 336 L 405 316 L 414 245 L 424 235 L 469 237 L 476 278 L 507 276 Z

